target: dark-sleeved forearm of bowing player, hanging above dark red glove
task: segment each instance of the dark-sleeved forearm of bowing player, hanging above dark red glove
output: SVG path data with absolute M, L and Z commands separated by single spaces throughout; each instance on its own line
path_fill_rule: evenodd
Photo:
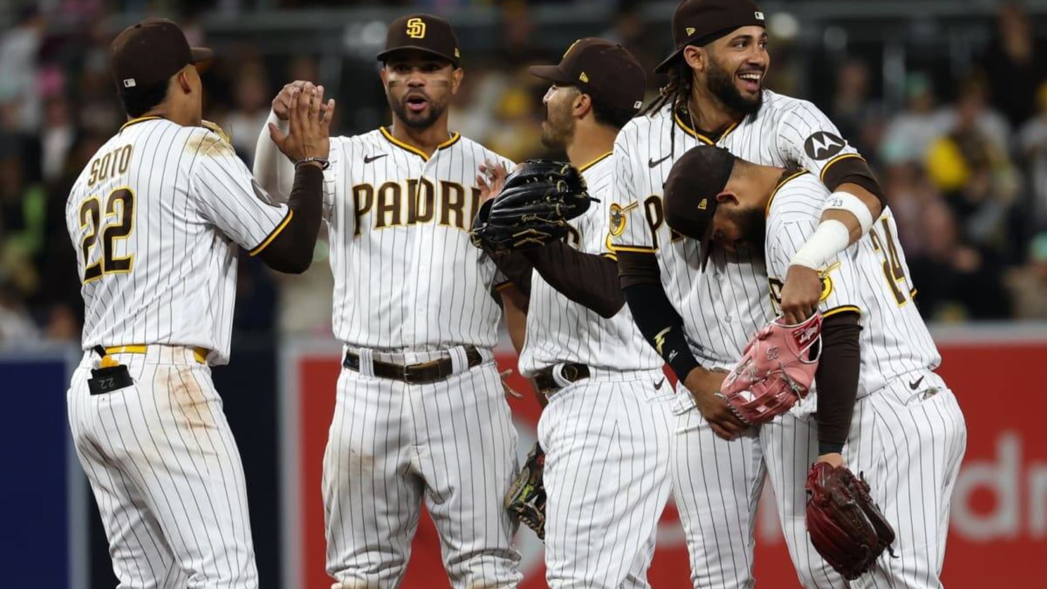
M 856 313 L 832 315 L 822 324 L 818 387 L 818 454 L 840 453 L 850 433 L 862 358 Z

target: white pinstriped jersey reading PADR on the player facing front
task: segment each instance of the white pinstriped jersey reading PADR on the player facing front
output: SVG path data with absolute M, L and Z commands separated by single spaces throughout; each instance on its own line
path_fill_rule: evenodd
M 324 217 L 338 340 L 387 351 L 497 344 L 499 275 L 469 242 L 488 159 L 513 168 L 458 133 L 431 157 L 384 128 L 332 137 Z

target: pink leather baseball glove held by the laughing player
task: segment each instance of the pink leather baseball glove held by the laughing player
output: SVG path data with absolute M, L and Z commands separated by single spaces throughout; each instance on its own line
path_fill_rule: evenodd
M 821 352 L 822 314 L 799 325 L 771 322 L 749 341 L 720 392 L 739 419 L 766 423 L 807 396 Z

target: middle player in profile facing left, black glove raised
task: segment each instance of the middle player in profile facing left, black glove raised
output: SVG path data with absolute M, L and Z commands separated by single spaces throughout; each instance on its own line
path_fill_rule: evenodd
M 530 297 L 519 368 L 549 401 L 538 421 L 547 580 L 553 588 L 649 587 L 670 489 L 673 391 L 624 308 L 607 242 L 610 150 L 642 106 L 645 77 L 626 49 L 595 38 L 531 72 L 553 83 L 542 141 L 566 151 L 600 201 L 564 241 L 514 253 L 529 272 L 516 280 Z M 505 268 L 511 279 L 514 265 Z

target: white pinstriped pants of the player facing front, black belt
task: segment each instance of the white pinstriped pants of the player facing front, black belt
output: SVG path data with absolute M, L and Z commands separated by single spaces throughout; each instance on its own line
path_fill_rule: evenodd
M 342 370 L 324 456 L 335 587 L 399 586 L 423 500 L 453 587 L 515 587 L 519 555 L 502 498 L 516 431 L 494 363 L 431 385 L 366 372 Z

